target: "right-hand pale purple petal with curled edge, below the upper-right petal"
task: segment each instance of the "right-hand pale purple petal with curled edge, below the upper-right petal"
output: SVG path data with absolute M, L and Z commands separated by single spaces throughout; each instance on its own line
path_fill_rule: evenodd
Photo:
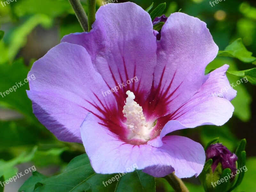
M 206 75 L 200 90 L 171 115 L 172 120 L 166 123 L 160 135 L 148 141 L 148 144 L 160 147 L 163 145 L 162 138 L 176 130 L 204 124 L 220 126 L 226 123 L 234 111 L 234 107 L 228 100 L 236 96 L 236 91 L 228 82 L 227 70 L 228 65 L 224 65 Z M 223 98 L 216 97 L 217 92 L 221 92 Z

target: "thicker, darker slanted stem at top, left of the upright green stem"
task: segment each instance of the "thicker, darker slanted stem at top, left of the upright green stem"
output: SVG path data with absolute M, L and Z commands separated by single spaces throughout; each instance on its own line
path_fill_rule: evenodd
M 84 32 L 88 31 L 88 18 L 84 11 L 84 8 L 82 7 L 82 4 L 80 0 L 68 0 L 71 4 L 73 10 L 76 13 L 76 17 L 83 28 Z

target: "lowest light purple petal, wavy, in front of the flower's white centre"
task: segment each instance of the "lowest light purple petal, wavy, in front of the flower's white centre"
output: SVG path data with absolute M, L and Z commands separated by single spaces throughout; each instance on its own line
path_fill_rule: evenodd
M 116 135 L 98 124 L 92 114 L 88 114 L 82 124 L 81 135 L 97 173 L 132 172 L 130 167 L 136 165 L 154 177 L 175 171 L 178 177 L 185 178 L 199 175 L 204 167 L 203 147 L 186 137 L 166 136 L 160 148 L 131 145 L 116 139 Z

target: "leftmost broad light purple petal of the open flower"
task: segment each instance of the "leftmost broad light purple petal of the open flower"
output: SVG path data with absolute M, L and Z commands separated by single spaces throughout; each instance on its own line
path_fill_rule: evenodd
M 113 95 L 101 94 L 108 87 L 82 46 L 57 45 L 34 63 L 31 74 L 36 77 L 28 91 L 33 111 L 59 140 L 81 142 L 80 125 L 88 111 L 104 119 L 104 112 L 117 108 Z

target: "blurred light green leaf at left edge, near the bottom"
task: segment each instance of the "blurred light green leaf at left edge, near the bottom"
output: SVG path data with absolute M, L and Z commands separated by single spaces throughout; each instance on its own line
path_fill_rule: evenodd
M 17 164 L 29 162 L 33 159 L 37 147 L 34 147 L 29 154 L 25 152 L 21 153 L 20 156 L 10 160 L 4 161 L 0 159 L 0 173 L 4 175 L 6 179 L 11 178 L 18 172 L 18 168 L 14 167 Z

